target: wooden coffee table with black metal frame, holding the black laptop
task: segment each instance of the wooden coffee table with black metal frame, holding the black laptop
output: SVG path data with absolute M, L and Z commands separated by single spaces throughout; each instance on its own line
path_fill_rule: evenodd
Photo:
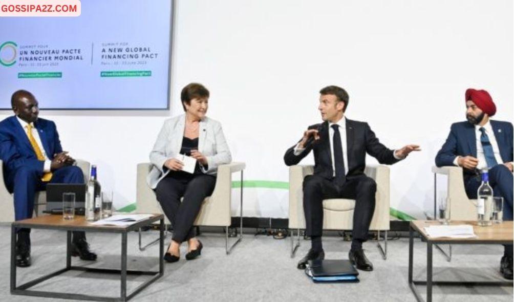
M 160 247 L 159 247 L 159 271 L 134 271 L 127 270 L 127 233 L 131 231 L 138 231 L 139 228 L 147 225 L 151 225 L 154 222 L 160 220 Z M 46 229 L 46 230 L 58 230 L 66 231 L 66 267 L 45 275 L 43 277 L 34 279 L 26 282 L 23 285 L 16 286 L 16 229 L 27 228 L 27 229 Z M 103 268 L 88 268 L 78 267 L 71 265 L 71 232 L 83 231 L 83 232 L 101 232 L 101 233 L 119 233 L 121 234 L 121 269 L 103 269 Z M 163 250 L 164 250 L 164 215 L 154 214 L 152 217 L 143 219 L 134 224 L 128 226 L 110 226 L 110 225 L 95 225 L 87 222 L 84 216 L 76 216 L 72 220 L 64 220 L 62 215 L 46 215 L 39 216 L 36 218 L 25 219 L 15 221 L 11 224 L 11 294 L 13 295 L 26 295 L 26 296 L 39 296 L 39 297 L 52 297 L 52 298 L 66 298 L 66 299 L 81 299 L 81 300 L 96 300 L 96 301 L 126 301 L 134 297 L 145 287 L 152 284 L 155 280 L 160 278 L 164 273 L 164 262 L 163 262 Z M 120 274 L 121 276 L 121 292 L 120 297 L 105 297 L 105 296 L 94 296 L 84 294 L 72 294 L 72 293 L 61 293 L 61 292 L 47 292 L 47 291 L 35 291 L 29 290 L 30 287 L 39 284 L 49 278 L 58 276 L 64 272 L 70 270 L 95 272 L 104 274 Z M 138 286 L 132 293 L 127 295 L 127 274 L 128 275 L 149 275 L 153 276 L 149 280 L 146 280 L 143 284 Z

